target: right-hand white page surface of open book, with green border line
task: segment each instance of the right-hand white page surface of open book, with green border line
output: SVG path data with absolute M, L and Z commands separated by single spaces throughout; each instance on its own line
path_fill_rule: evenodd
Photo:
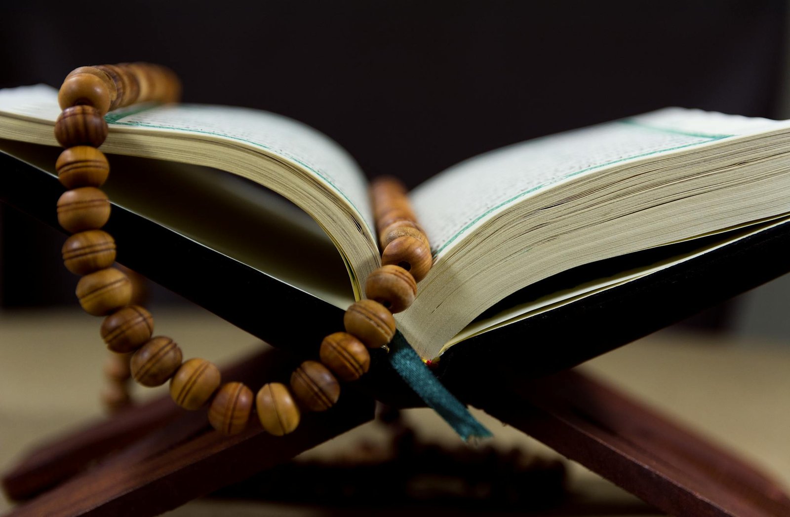
M 510 204 L 578 174 L 781 125 L 788 123 L 668 108 L 476 156 L 419 185 L 411 199 L 439 257 Z

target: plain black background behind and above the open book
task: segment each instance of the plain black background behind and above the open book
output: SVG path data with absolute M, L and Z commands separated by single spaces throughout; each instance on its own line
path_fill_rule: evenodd
M 784 2 L 78 2 L 0 7 L 0 88 L 160 62 L 414 186 L 520 140 L 666 106 L 781 118 Z M 2 174 L 2 171 L 0 171 Z M 54 209 L 54 208 L 53 208 Z M 0 213 L 0 300 L 73 303 L 64 236 Z

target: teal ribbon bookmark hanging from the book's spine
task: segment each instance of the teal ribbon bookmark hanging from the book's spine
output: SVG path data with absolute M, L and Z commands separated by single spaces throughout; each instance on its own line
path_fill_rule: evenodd
M 423 402 L 436 411 L 461 439 L 488 438 L 491 431 L 477 421 L 466 406 L 439 382 L 400 331 L 389 343 L 389 364 Z

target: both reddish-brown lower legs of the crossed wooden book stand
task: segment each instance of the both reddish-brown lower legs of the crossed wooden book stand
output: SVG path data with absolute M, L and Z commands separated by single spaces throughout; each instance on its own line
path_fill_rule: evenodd
M 265 355 L 269 354 L 224 375 L 246 382 L 282 378 L 288 362 L 273 355 L 264 361 Z M 239 375 L 244 370 L 246 374 Z M 502 380 L 476 386 L 476 406 L 672 515 L 790 515 L 790 499 L 768 476 L 580 373 L 560 373 L 518 386 Z M 6 476 L 6 489 L 18 494 L 26 481 L 32 493 L 43 481 L 53 481 L 53 471 L 62 478 L 69 469 L 71 474 L 76 471 L 75 464 L 81 468 L 96 458 L 89 449 L 94 442 L 106 453 L 122 446 L 119 439 L 129 444 L 146 428 L 179 416 L 11 515 L 152 515 L 175 508 L 371 418 L 369 403 L 350 400 L 355 396 L 344 388 L 337 407 L 307 415 L 299 429 L 284 438 L 250 425 L 239 436 L 220 439 L 217 433 L 205 433 L 204 411 L 183 412 L 169 399 L 145 410 L 130 410 L 88 429 L 84 436 L 36 452 L 16 475 Z M 156 418 L 152 410 L 159 411 Z

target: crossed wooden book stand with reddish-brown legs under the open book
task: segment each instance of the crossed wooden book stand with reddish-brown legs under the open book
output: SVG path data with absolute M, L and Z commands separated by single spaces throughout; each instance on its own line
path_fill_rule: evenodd
M 0 165 L 5 170 L 0 175 L 0 200 L 55 226 L 51 207 L 58 196 L 57 181 L 7 155 L 0 154 Z M 15 174 L 14 169 L 28 170 Z M 24 192 L 40 195 L 32 198 Z M 166 230 L 135 232 L 139 225 L 151 223 L 114 210 L 112 232 L 124 242 L 134 242 L 136 233 L 145 233 L 149 246 L 142 249 L 156 245 L 164 255 L 173 246 L 188 245 Z M 497 343 L 471 339 L 442 358 L 437 374 L 465 402 L 673 515 L 790 515 L 790 498 L 766 475 L 626 395 L 568 370 L 787 272 L 784 250 L 788 246 L 790 224 L 766 230 L 682 268 L 668 268 L 510 325 L 498 332 Z M 195 258 L 194 266 L 169 268 L 154 266 L 143 256 L 127 255 L 122 260 L 201 302 L 201 294 L 190 291 L 188 280 L 195 272 L 205 272 L 205 265 L 215 257 Z M 750 267 L 756 262 L 759 268 Z M 234 267 L 238 268 L 228 264 L 223 274 L 235 274 Z M 721 282 L 732 270 L 748 274 L 728 275 L 728 282 Z M 204 301 L 227 299 L 216 296 L 225 283 L 208 279 L 203 285 L 204 289 L 208 286 Z M 663 310 L 645 312 L 646 300 Z M 244 313 L 232 313 L 232 308 L 211 302 L 201 305 L 245 328 Z M 327 320 L 336 317 L 329 315 Z M 326 326 L 319 322 L 318 328 L 323 332 Z M 273 332 L 276 338 L 276 329 Z M 551 341 L 562 347 L 519 346 L 526 335 L 536 343 Z M 512 360 L 481 365 L 479 358 L 485 356 L 480 354 L 494 347 L 497 354 Z M 562 354 L 551 351 L 557 348 Z M 223 374 L 254 385 L 281 379 L 292 370 L 292 353 L 303 357 L 314 350 L 269 351 Z M 9 515 L 156 515 L 371 420 L 374 398 L 400 407 L 419 403 L 381 355 L 374 355 L 367 377 L 362 384 L 344 388 L 336 407 L 307 415 L 295 433 L 282 438 L 254 425 L 239 436 L 220 436 L 210 429 L 202 411 L 186 412 L 169 398 L 126 410 L 43 445 L 6 473 L 3 485 L 10 497 L 33 498 Z

